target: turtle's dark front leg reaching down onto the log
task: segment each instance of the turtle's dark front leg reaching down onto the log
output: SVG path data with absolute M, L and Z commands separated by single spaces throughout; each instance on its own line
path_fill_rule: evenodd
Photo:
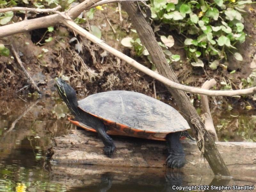
M 105 125 L 102 123 L 101 126 L 97 126 L 96 131 L 98 132 L 100 139 L 102 139 L 103 144 L 105 145 L 105 147 L 103 148 L 105 155 L 111 157 L 116 146 L 112 138 L 106 133 Z

